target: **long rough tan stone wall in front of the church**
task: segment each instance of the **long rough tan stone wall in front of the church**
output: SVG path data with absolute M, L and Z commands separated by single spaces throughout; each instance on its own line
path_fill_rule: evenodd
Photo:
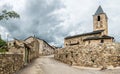
M 120 66 L 120 44 L 70 46 L 55 51 L 55 59 L 70 65 L 107 68 Z

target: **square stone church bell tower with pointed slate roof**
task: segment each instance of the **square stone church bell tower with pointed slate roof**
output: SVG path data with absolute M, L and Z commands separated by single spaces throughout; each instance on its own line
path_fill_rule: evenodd
M 94 31 L 104 30 L 103 35 L 108 35 L 108 18 L 101 6 L 98 7 L 93 15 L 93 28 Z

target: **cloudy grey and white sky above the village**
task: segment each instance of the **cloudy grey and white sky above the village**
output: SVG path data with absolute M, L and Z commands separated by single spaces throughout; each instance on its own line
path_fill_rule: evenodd
M 92 15 L 101 5 L 109 18 L 109 35 L 120 42 L 120 0 L 0 0 L 0 12 L 14 10 L 20 19 L 0 21 L 3 39 L 29 36 L 61 46 L 64 37 L 93 31 Z

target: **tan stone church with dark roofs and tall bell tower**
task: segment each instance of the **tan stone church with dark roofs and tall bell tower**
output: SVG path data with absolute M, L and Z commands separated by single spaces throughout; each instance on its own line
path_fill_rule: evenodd
M 111 43 L 114 37 L 108 36 L 108 17 L 99 6 L 93 15 L 93 32 L 68 36 L 64 39 L 64 46 Z

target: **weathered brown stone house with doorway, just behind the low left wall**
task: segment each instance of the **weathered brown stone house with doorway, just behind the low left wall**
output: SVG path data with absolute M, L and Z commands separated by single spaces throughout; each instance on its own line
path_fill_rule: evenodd
M 8 51 L 14 54 L 23 54 L 24 63 L 29 63 L 34 58 L 39 56 L 38 49 L 38 41 L 37 40 L 29 40 L 29 38 L 25 40 L 13 40 L 8 43 Z

